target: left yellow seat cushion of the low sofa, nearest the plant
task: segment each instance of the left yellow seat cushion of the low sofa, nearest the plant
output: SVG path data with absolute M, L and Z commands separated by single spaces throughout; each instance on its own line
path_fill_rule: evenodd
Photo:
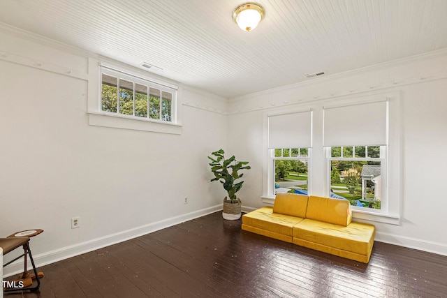
M 303 219 L 276 214 L 272 207 L 263 207 L 242 216 L 242 230 L 291 243 L 293 227 Z

